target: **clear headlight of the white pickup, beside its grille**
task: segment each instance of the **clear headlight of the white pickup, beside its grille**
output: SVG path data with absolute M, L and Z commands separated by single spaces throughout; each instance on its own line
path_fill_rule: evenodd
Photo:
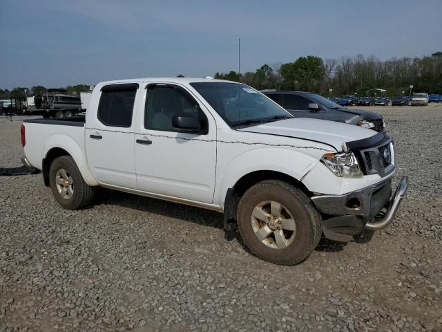
M 342 178 L 362 178 L 364 176 L 353 152 L 325 154 L 323 158 L 320 158 L 320 162 L 334 175 Z

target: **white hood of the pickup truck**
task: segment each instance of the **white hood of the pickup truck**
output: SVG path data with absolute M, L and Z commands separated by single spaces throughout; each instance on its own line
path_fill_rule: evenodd
M 343 151 L 346 142 L 364 140 L 376 135 L 376 131 L 372 129 L 361 128 L 353 124 L 309 118 L 274 121 L 238 130 L 321 142 L 331 145 L 337 151 Z

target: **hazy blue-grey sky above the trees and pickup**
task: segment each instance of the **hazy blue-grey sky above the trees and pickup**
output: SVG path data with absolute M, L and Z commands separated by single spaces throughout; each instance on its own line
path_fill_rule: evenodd
M 0 0 L 0 89 L 442 50 L 441 0 Z

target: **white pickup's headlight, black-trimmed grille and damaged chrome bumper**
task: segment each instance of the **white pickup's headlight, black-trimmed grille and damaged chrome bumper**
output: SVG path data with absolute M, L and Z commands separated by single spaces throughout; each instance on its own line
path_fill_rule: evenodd
M 336 176 L 362 178 L 378 175 L 378 183 L 342 195 L 311 197 L 323 214 L 323 233 L 334 241 L 371 237 L 372 232 L 389 225 L 407 191 L 403 176 L 394 195 L 390 175 L 395 169 L 394 143 L 385 133 L 364 140 L 347 142 L 343 152 L 325 154 L 321 162 Z

